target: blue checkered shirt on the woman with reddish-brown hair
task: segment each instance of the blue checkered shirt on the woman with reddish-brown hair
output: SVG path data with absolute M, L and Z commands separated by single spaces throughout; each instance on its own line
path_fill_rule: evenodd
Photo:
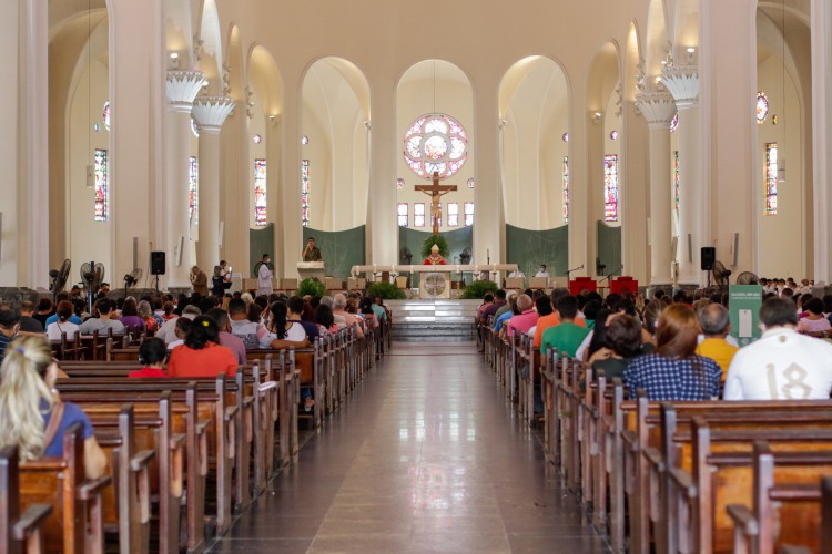
M 651 353 L 636 358 L 623 373 L 630 398 L 645 389 L 649 400 L 711 400 L 719 397 L 722 370 L 701 356 L 670 359 Z

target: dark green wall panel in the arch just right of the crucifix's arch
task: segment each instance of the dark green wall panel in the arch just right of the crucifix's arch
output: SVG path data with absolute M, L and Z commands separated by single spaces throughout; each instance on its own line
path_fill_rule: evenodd
M 506 263 L 517 264 L 526 277 L 534 277 L 540 264 L 551 277 L 564 276 L 569 264 L 569 227 L 529 230 L 506 225 Z

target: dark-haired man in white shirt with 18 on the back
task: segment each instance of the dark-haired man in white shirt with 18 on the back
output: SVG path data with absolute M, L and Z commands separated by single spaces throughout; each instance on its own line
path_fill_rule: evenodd
M 832 345 L 800 335 L 794 302 L 769 298 L 760 308 L 762 337 L 733 357 L 726 400 L 829 400 Z

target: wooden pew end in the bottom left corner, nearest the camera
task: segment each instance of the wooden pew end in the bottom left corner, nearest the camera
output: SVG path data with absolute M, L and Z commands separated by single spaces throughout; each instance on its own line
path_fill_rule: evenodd
M 41 525 L 52 513 L 50 504 L 31 504 L 20 513 L 18 449 L 0 450 L 0 552 L 40 554 L 43 552 Z

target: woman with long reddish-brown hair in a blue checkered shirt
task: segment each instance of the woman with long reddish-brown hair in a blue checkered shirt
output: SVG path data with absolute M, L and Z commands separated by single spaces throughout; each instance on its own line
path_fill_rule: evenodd
M 656 351 L 633 360 L 625 370 L 631 398 L 643 389 L 650 400 L 710 400 L 719 396 L 722 370 L 710 358 L 696 356 L 700 334 L 690 306 L 673 304 L 659 316 Z

